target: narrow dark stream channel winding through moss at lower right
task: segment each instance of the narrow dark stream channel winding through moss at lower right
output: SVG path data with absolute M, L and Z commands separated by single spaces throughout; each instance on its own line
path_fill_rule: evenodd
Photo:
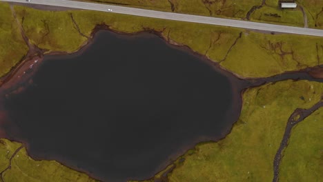
M 273 163 L 273 182 L 278 181 L 278 176 L 280 172 L 280 161 L 282 161 L 282 154 L 284 152 L 284 149 L 288 145 L 288 140 L 291 136 L 291 130 L 292 128 L 297 124 L 303 121 L 306 117 L 309 117 L 315 110 L 318 110 L 319 108 L 323 107 L 323 100 L 319 101 L 318 103 L 315 103 L 311 108 L 309 109 L 300 109 L 297 108 L 293 114 L 291 114 L 291 117 L 289 117 L 284 136 L 282 139 L 282 142 L 280 143 L 280 148 L 278 148 L 277 153 L 275 155 L 274 163 Z

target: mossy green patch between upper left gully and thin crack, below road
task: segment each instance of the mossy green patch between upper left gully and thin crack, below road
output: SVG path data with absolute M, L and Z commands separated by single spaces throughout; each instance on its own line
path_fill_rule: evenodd
M 77 32 L 68 12 L 26 10 L 22 6 L 14 9 L 26 36 L 39 48 L 74 52 L 87 40 Z

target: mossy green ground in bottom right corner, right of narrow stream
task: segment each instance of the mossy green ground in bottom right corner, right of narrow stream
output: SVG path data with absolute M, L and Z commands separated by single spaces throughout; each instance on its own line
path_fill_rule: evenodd
M 323 108 L 298 123 L 284 151 L 280 181 L 323 179 Z

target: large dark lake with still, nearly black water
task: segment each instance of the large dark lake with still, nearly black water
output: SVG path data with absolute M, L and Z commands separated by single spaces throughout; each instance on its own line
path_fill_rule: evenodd
M 102 181 L 147 179 L 230 130 L 241 106 L 230 77 L 154 34 L 99 31 L 77 54 L 46 56 L 2 107 L 8 137 L 35 159 Z

